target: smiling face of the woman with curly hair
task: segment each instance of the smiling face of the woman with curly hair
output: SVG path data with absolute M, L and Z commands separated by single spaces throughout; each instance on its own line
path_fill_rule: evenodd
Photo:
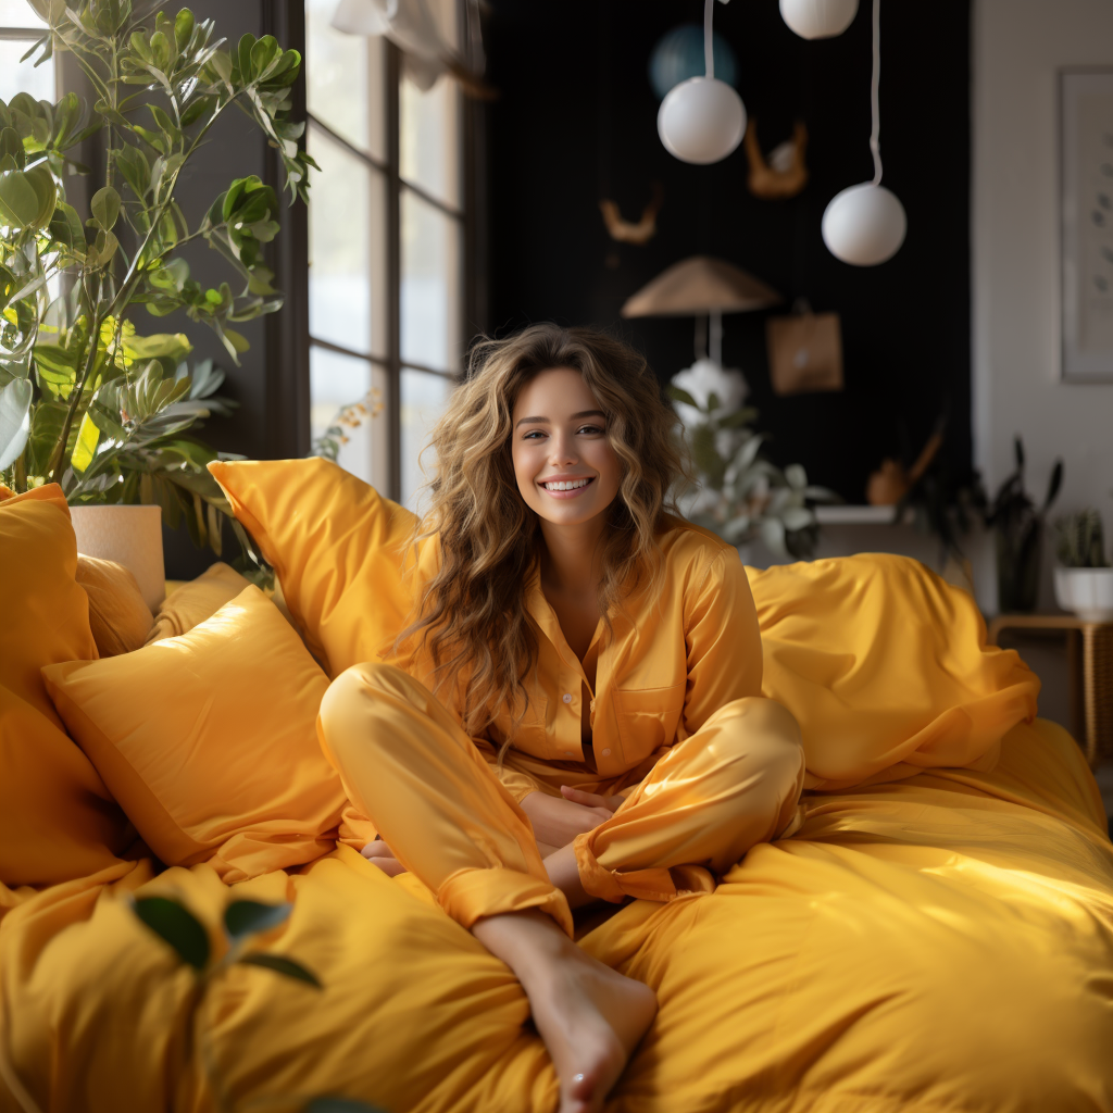
M 621 465 L 599 400 L 580 372 L 542 371 L 519 393 L 512 424 L 518 490 L 543 521 L 579 525 L 614 501 Z

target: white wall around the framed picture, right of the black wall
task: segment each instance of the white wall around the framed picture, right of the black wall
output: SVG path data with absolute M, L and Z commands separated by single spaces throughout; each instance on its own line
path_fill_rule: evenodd
M 1113 385 L 1058 381 L 1062 66 L 1113 66 L 1111 0 L 974 0 L 974 453 L 992 493 L 1020 433 L 1040 500 L 1062 456 L 1055 512 L 1097 506 L 1113 542 Z

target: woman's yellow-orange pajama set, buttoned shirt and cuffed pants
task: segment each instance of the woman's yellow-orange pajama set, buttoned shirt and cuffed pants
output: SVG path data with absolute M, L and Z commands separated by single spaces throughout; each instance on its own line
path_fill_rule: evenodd
M 804 750 L 792 716 L 761 691 L 761 638 L 737 551 L 669 519 L 656 591 L 600 621 L 584 660 L 569 648 L 533 573 L 538 641 L 529 706 L 503 708 L 470 738 L 465 676 L 433 696 L 423 651 L 341 673 L 319 733 L 352 802 L 450 916 L 540 908 L 571 932 L 520 801 L 561 785 L 626 797 L 575 839 L 584 889 L 618 902 L 709 888 L 754 845 L 795 827 Z M 588 701 L 591 754 L 582 743 Z M 498 752 L 511 746 L 501 768 Z M 591 768 L 593 758 L 594 769 Z

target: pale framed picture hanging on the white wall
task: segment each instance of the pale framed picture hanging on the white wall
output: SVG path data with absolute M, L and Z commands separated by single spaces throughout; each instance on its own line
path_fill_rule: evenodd
M 1113 67 L 1058 73 L 1062 377 L 1113 382 Z

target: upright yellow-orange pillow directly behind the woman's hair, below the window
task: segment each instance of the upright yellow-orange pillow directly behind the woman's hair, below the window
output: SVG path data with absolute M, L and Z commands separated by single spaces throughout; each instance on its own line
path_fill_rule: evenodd
M 327 460 L 208 465 L 274 565 L 306 644 L 333 677 L 374 660 L 408 620 L 416 519 Z

